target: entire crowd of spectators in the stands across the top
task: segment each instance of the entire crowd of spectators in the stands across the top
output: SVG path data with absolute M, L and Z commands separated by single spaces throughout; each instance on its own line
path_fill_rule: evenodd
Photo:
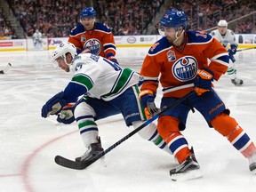
M 43 36 L 68 36 L 71 28 L 80 20 L 80 12 L 87 4 L 83 0 L 8 0 L 12 12 L 27 36 L 32 36 L 36 29 Z M 164 0 L 97 0 L 94 1 L 97 20 L 111 28 L 114 36 L 145 34 L 148 24 L 164 5 Z M 206 30 L 216 27 L 220 19 L 234 20 L 255 11 L 255 0 L 178 0 L 173 1 L 164 11 L 175 7 L 188 15 L 188 28 Z M 254 17 L 255 14 L 254 14 Z M 249 17 L 243 22 L 230 25 L 235 33 L 256 33 L 255 18 Z M 0 8 L 0 38 L 13 36 L 10 22 Z M 155 31 L 156 33 L 156 31 Z

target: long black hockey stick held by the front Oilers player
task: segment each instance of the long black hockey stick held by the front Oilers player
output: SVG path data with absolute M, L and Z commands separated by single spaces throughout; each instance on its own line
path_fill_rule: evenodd
M 107 148 L 105 151 L 101 152 L 98 156 L 96 156 L 95 158 L 93 158 L 91 161 L 87 161 L 86 163 L 84 162 L 76 162 L 76 161 L 72 161 L 69 160 L 63 156 L 55 156 L 55 163 L 59 164 L 60 166 L 64 166 L 70 169 L 76 169 L 76 170 L 83 170 L 86 167 L 88 167 L 90 164 L 93 164 L 94 162 L 96 162 L 98 159 L 100 159 L 102 156 L 105 156 L 109 151 L 113 150 L 114 148 L 116 148 L 116 146 L 120 145 L 122 142 L 124 142 L 124 140 L 128 140 L 130 137 L 132 137 L 132 135 L 134 135 L 136 132 L 140 132 L 141 129 L 143 129 L 144 127 L 146 127 L 148 124 L 151 124 L 153 121 L 156 120 L 156 118 L 158 118 L 159 116 L 163 115 L 167 110 L 170 110 L 174 107 L 176 107 L 177 105 L 179 105 L 182 101 L 187 100 L 188 97 L 190 97 L 191 95 L 193 95 L 195 93 L 195 90 L 188 92 L 188 94 L 186 94 L 185 96 L 183 96 L 182 98 L 180 98 L 179 100 L 175 100 L 171 106 L 162 109 L 161 112 L 159 112 L 156 116 L 153 116 L 152 118 L 148 119 L 147 121 L 144 122 L 144 124 L 141 124 L 137 129 L 133 130 L 132 132 L 130 132 L 129 134 L 127 134 L 126 136 L 124 136 L 124 138 L 122 138 L 121 140 L 116 141 L 115 144 L 113 144 L 112 146 L 110 146 L 109 148 Z

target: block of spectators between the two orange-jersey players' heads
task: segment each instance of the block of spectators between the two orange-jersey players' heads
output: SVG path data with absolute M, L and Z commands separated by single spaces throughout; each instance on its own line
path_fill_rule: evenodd
M 98 0 L 96 11 L 101 21 L 111 28 L 116 36 L 141 35 L 164 0 Z M 108 4 L 108 5 L 107 5 Z

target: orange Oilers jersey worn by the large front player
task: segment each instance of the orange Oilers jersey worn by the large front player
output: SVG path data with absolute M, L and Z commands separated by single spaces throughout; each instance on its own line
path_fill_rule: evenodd
M 151 46 L 140 70 L 141 90 L 156 93 L 160 78 L 164 97 L 180 98 L 194 88 L 198 68 L 212 70 L 216 81 L 226 73 L 228 52 L 218 40 L 196 31 L 185 32 L 185 39 L 181 51 L 165 36 Z

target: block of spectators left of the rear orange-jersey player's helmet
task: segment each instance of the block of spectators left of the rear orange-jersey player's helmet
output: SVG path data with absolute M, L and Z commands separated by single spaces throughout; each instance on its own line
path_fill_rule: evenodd
M 79 20 L 84 1 L 68 0 L 9 0 L 12 12 L 20 20 L 20 26 L 32 36 L 36 29 L 43 36 L 68 36 Z

